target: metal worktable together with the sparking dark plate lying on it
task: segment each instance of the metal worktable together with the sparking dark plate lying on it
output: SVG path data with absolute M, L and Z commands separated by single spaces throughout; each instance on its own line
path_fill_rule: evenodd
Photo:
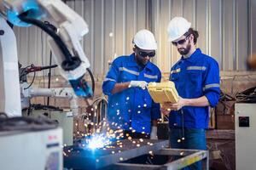
M 64 167 L 67 169 L 180 169 L 195 161 L 203 160 L 205 169 L 208 169 L 207 150 L 167 149 L 168 144 L 168 140 L 125 139 L 97 150 L 66 147 L 64 148 Z M 147 155 L 176 158 L 157 165 L 130 161 L 132 158 L 136 160 L 139 156 Z

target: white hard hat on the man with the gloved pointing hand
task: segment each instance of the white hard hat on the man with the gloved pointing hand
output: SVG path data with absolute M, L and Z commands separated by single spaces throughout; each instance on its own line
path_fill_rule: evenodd
M 148 30 L 141 30 L 133 37 L 132 43 L 141 49 L 155 50 L 157 43 L 154 34 Z

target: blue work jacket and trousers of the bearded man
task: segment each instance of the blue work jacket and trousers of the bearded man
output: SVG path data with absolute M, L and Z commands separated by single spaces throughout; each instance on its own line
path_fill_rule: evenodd
M 183 57 L 172 66 L 170 81 L 184 99 L 206 96 L 211 107 L 218 104 L 218 62 L 197 48 L 189 58 Z M 169 114 L 170 142 L 172 148 L 207 150 L 205 129 L 208 128 L 209 106 L 184 106 Z M 184 138 L 184 140 L 183 140 Z M 192 169 L 201 169 L 197 163 Z

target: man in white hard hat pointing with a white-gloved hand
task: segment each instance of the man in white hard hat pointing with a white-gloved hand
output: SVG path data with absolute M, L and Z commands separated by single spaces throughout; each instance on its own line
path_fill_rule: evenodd
M 113 60 L 102 89 L 108 95 L 108 122 L 123 129 L 125 138 L 157 139 L 160 105 L 148 94 L 148 82 L 160 82 L 159 68 L 150 62 L 157 43 L 151 31 L 138 31 L 131 55 Z

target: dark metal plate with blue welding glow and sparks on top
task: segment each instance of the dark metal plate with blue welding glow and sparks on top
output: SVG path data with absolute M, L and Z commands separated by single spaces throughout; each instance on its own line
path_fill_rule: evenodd
M 64 167 L 73 169 L 98 169 L 119 161 L 126 161 L 168 146 L 168 140 L 125 139 L 102 149 L 88 150 L 82 147 L 64 148 Z

